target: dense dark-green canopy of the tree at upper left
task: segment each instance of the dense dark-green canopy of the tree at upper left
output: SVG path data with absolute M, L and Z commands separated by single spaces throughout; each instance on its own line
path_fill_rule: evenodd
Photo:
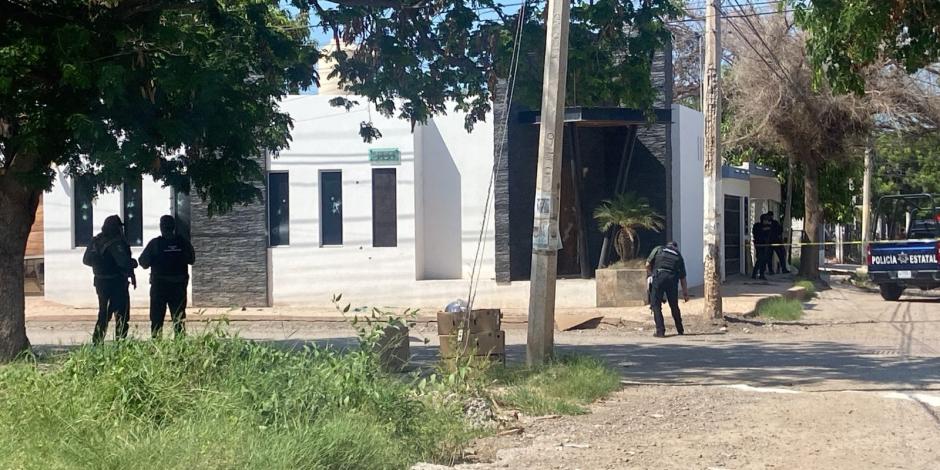
M 101 187 L 191 180 L 215 210 L 250 200 L 253 157 L 289 139 L 277 100 L 316 79 L 307 15 L 277 1 L 5 3 L 0 179 L 29 188 L 58 165 Z

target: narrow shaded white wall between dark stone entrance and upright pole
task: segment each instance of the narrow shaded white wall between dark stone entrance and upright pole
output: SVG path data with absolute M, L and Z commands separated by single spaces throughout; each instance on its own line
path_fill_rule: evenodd
M 685 106 L 672 107 L 673 233 L 685 258 L 689 286 L 704 283 L 702 226 L 705 188 L 702 113 Z

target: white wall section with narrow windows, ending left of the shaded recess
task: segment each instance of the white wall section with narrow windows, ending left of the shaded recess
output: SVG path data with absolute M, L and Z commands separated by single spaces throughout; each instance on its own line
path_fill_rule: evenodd
M 272 298 L 277 304 L 328 305 L 345 286 L 377 291 L 414 280 L 414 137 L 407 122 L 371 120 L 383 137 L 371 144 L 359 136 L 370 120 L 365 106 L 349 112 L 333 108 L 328 96 L 291 96 L 282 103 L 294 120 L 289 148 L 271 159 L 272 172 L 286 171 L 290 184 L 290 244 L 272 247 Z M 372 247 L 372 169 L 370 148 L 398 148 L 396 169 L 398 246 Z M 387 168 L 387 167 L 383 167 Z M 342 171 L 343 245 L 320 244 L 320 172 Z M 400 288 L 400 287 L 399 287 Z

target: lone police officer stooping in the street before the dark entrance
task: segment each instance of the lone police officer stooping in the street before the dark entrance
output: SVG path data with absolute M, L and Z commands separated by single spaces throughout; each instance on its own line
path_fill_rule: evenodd
M 678 286 L 682 285 L 682 298 L 689 301 L 689 286 L 685 280 L 685 260 L 679 253 L 679 245 L 669 242 L 666 246 L 658 246 L 646 259 L 646 273 L 653 277 L 650 285 L 650 307 L 653 309 L 653 320 L 656 322 L 656 333 L 653 336 L 662 338 L 666 336 L 666 325 L 663 320 L 663 296 L 669 302 L 672 311 L 672 320 L 676 323 L 676 332 L 685 334 L 682 327 L 682 314 L 679 312 Z

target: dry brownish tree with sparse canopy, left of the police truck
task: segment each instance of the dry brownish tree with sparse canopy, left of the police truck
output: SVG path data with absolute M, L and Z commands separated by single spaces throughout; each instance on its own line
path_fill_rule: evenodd
M 824 172 L 857 172 L 859 148 L 872 132 L 936 129 L 940 100 L 891 63 L 866 69 L 862 95 L 835 93 L 826 82 L 814 86 L 807 35 L 783 14 L 729 22 L 737 28 L 729 40 L 735 51 L 727 81 L 728 110 L 734 116 L 730 143 L 772 149 L 802 166 L 806 236 L 819 242 L 827 202 L 822 191 L 845 183 L 845 178 L 821 180 Z M 844 196 L 835 186 L 831 195 Z M 831 215 L 835 220 L 838 214 Z M 800 274 L 807 277 L 818 275 L 814 249 L 805 246 L 801 257 Z

